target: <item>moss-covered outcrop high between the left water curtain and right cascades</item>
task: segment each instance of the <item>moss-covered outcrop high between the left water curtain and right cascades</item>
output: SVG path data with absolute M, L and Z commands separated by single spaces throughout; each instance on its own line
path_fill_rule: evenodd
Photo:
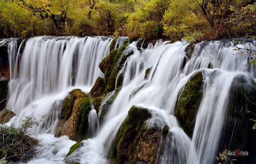
M 106 94 L 115 89 L 115 81 L 119 70 L 121 70 L 123 63 L 131 53 L 124 54 L 123 51 L 127 45 L 122 45 L 119 49 L 113 50 L 100 62 L 100 70 L 104 73 L 104 82 L 107 84 L 103 94 Z

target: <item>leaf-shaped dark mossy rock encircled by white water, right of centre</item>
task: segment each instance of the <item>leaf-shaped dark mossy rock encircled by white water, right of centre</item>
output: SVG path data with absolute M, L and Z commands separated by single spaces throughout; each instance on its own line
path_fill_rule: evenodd
M 198 106 L 202 98 L 203 74 L 195 73 L 185 85 L 174 112 L 184 132 L 192 137 Z

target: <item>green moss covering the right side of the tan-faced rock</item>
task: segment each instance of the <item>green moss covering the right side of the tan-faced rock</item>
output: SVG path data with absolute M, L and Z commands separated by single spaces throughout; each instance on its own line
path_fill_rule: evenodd
M 73 130 L 73 140 L 80 141 L 86 136 L 88 131 L 88 115 L 90 110 L 92 110 L 89 97 L 86 95 L 79 99 L 77 106 L 78 111 Z

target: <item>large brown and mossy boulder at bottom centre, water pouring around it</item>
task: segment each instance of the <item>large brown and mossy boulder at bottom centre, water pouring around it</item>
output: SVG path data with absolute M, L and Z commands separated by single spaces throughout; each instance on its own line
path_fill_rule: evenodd
M 156 163 L 160 140 L 165 140 L 166 136 L 162 136 L 156 126 L 146 126 L 145 121 L 150 117 L 148 109 L 131 107 L 110 151 L 114 164 Z

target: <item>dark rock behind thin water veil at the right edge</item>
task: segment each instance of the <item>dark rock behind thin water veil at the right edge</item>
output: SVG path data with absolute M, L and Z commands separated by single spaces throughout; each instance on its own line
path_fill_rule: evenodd
M 238 148 L 256 154 L 256 130 L 252 130 L 255 122 L 250 120 L 256 120 L 255 81 L 241 74 L 234 78 L 230 88 L 218 152 Z M 256 163 L 256 156 L 239 156 L 237 163 Z

